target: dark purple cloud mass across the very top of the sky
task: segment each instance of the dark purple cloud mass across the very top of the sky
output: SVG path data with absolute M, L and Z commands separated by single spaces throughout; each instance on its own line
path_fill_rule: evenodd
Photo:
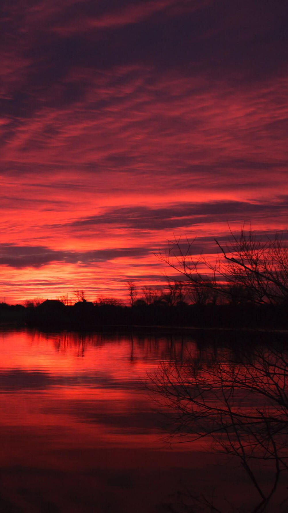
M 176 67 L 190 76 L 224 77 L 239 87 L 241 80 L 284 71 L 287 19 L 281 0 L 122 0 L 120 5 L 86 0 L 58 7 L 47 1 L 41 13 L 18 0 L 6 5 L 2 26 L 11 64 L 1 108 L 10 116 L 29 117 L 43 105 L 75 104 L 88 83 L 81 73 L 72 80 L 70 71 L 83 68 Z

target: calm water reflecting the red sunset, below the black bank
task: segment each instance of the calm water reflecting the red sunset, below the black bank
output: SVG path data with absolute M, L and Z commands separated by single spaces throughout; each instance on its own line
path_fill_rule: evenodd
M 194 496 L 205 500 L 215 489 L 217 496 L 230 495 L 229 500 L 241 511 L 246 504 L 246 511 L 251 512 L 251 504 L 257 503 L 258 490 L 251 487 L 247 472 L 210 453 L 211 437 L 221 447 L 228 440 L 237 451 L 241 448 L 239 442 L 235 444 L 235 430 L 233 434 L 227 411 L 222 415 L 224 428 L 220 425 L 219 429 L 217 407 L 214 407 L 223 402 L 221 394 L 231 388 L 231 380 L 235 383 L 233 393 L 227 396 L 228 403 L 232 404 L 233 398 L 238 434 L 241 431 L 248 464 L 253 472 L 258 472 L 256 456 L 262 450 L 260 456 L 265 453 L 266 467 L 260 479 L 257 473 L 257 479 L 261 487 L 263 480 L 271 487 L 275 480 L 272 463 L 275 467 L 280 458 L 277 494 L 281 489 L 286 461 L 286 378 L 278 379 L 274 388 L 270 387 L 275 397 L 281 390 L 282 403 L 277 403 L 274 396 L 251 390 L 251 386 L 241 389 L 238 383 L 246 373 L 246 384 L 254 380 L 259 389 L 259 362 L 263 370 L 265 359 L 261 361 L 257 351 L 259 355 L 265 354 L 265 358 L 270 354 L 261 353 L 262 336 L 258 341 L 254 337 L 253 357 L 248 350 L 251 341 L 246 336 L 239 341 L 235 335 L 224 333 L 172 336 L 159 332 L 42 333 L 3 329 L 1 340 L 0 510 L 195 511 L 195 503 L 191 503 L 191 497 L 183 497 L 183 490 L 191 490 Z M 279 345 L 275 347 L 279 349 Z M 279 374 L 281 355 L 273 354 Z M 285 366 L 285 352 L 282 356 L 281 365 Z M 271 362 L 269 369 L 266 381 L 272 379 Z M 155 403 L 148 376 L 153 376 L 158 392 L 162 393 L 166 402 L 164 410 L 168 412 L 172 406 L 170 427 L 177 429 L 181 441 L 191 434 L 200 437 L 196 444 L 176 444 L 171 448 L 164 440 L 167 421 L 166 417 L 163 421 L 162 408 Z M 215 383 L 218 383 L 217 391 Z M 266 385 L 268 382 L 262 380 L 261 387 L 267 389 Z M 177 393 L 181 391 L 188 396 L 181 402 L 176 394 L 171 403 L 173 387 Z M 199 404 L 205 401 L 202 409 L 191 409 L 195 390 Z M 265 414 L 259 423 L 249 421 L 255 411 L 258 418 L 260 411 Z M 278 419 L 277 422 L 272 422 L 272 418 Z M 260 436 L 263 437 L 267 425 L 271 429 L 269 436 L 261 442 Z M 254 440 L 253 444 L 250 439 Z M 273 443 L 277 445 L 277 458 Z M 175 505 L 177 490 L 181 490 L 181 497 Z M 273 500 L 271 507 L 275 505 Z M 201 507 L 209 510 L 210 505 Z M 228 510 L 225 503 L 221 511 Z M 285 504 L 282 510 L 286 510 Z

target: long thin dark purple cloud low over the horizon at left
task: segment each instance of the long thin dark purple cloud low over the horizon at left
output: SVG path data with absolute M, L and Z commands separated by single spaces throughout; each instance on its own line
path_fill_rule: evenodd
M 23 268 L 41 267 L 51 262 L 91 264 L 121 257 L 143 257 L 148 253 L 149 250 L 145 248 L 112 248 L 76 252 L 57 251 L 45 246 L 0 244 L 0 265 Z

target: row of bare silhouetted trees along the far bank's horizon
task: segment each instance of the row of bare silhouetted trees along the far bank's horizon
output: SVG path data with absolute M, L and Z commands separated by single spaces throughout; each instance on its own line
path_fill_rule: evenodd
M 180 238 L 169 242 L 166 251 L 155 254 L 166 266 L 165 286 L 139 287 L 133 280 L 126 283 L 129 307 L 134 313 L 126 311 L 124 314 L 127 306 L 114 297 L 100 295 L 95 301 L 89 302 L 84 290 L 74 290 L 72 299 L 68 295 L 61 295 L 57 302 L 67 307 L 83 304 L 82 312 L 85 305 L 88 308 L 88 304 L 90 310 L 91 305 L 104 310 L 118 308 L 122 310 L 122 317 L 126 316 L 128 320 L 130 315 L 131 319 L 134 316 L 137 321 L 138 315 L 139 322 L 149 322 L 149 315 L 154 315 L 155 322 L 163 320 L 167 324 L 165 315 L 168 319 L 170 313 L 164 314 L 164 309 L 177 311 L 173 313 L 175 322 L 178 320 L 184 325 L 187 322 L 195 323 L 195 318 L 199 325 L 201 320 L 206 322 L 206 318 L 209 320 L 213 316 L 215 321 L 222 316 L 219 324 L 224 325 L 225 317 L 229 315 L 236 315 L 236 322 L 240 311 L 240 317 L 244 317 L 245 322 L 249 315 L 253 317 L 255 311 L 256 317 L 262 315 L 264 318 L 268 314 L 268 317 L 274 316 L 277 322 L 275 312 L 278 310 L 281 312 L 280 317 L 285 317 L 288 304 L 288 248 L 284 235 L 261 237 L 254 234 L 251 228 L 245 230 L 243 226 L 239 234 L 230 231 L 230 238 L 225 245 L 215 239 L 218 252 L 214 260 L 204 254 L 195 256 L 196 239 L 190 241 Z M 168 269 L 173 271 L 172 276 L 168 274 Z M 37 298 L 26 301 L 24 306 L 29 309 L 38 308 L 43 303 L 43 300 Z M 152 315 L 152 311 L 157 311 L 157 315 Z M 118 317 L 121 317 L 120 312 Z

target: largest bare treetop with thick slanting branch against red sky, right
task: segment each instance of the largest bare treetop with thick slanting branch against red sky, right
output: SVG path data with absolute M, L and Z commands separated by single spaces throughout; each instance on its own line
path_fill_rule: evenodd
M 205 288 L 232 302 L 236 301 L 236 295 L 238 302 L 288 301 L 288 247 L 283 235 L 261 238 L 251 228 L 246 231 L 244 226 L 239 235 L 230 231 L 225 248 L 215 239 L 220 249 L 215 263 L 203 254 L 195 258 L 194 242 L 195 239 L 175 239 L 158 257 L 193 285 L 196 299 L 199 289 Z

